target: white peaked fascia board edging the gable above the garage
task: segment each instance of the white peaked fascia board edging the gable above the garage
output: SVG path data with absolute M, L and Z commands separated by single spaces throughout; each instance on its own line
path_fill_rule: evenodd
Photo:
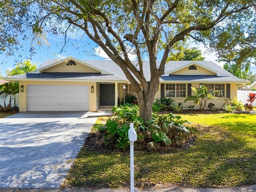
M 97 70 L 97 71 L 100 71 L 101 74 L 104 74 L 104 75 L 112 75 L 112 74 L 109 73 L 109 72 L 106 72 L 106 71 L 104 71 L 104 70 L 102 70 L 102 69 L 100 69 L 100 68 L 98 68 L 98 67 L 92 66 L 92 65 L 90 65 L 90 64 L 88 64 L 88 63 L 86 63 L 86 62 L 84 62 L 84 61 L 82 61 L 82 60 L 78 60 L 78 59 L 76 59 L 76 58 L 74 58 L 74 57 L 68 57 L 68 58 L 65 58 L 65 59 L 62 59 L 62 60 L 53 62 L 52 64 L 50 64 L 50 65 L 48 65 L 48 66 L 45 66 L 45 67 L 36 69 L 36 70 L 34 70 L 34 71 L 32 71 L 32 72 L 29 72 L 29 73 L 40 73 L 40 71 L 42 71 L 42 70 L 45 70 L 45 69 L 50 68 L 50 67 L 53 67 L 53 66 L 55 66 L 55 65 L 58 65 L 58 64 L 60 64 L 60 63 L 62 63 L 62 62 L 64 62 L 64 61 L 68 61 L 68 60 L 74 60 L 75 62 L 79 62 L 79 63 L 81 63 L 81 64 L 84 64 L 84 65 L 86 65 L 86 66 L 88 66 L 88 67 L 90 67 L 90 68 L 93 68 L 93 69 L 95 69 L 95 70 Z

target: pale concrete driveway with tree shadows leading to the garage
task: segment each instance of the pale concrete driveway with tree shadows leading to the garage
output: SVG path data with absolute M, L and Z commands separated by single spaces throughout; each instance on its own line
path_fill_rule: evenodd
M 21 112 L 0 119 L 0 188 L 58 188 L 98 113 Z

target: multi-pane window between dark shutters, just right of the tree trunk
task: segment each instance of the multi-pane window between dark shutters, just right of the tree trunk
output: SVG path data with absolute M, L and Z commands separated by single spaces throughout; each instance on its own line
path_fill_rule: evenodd
M 186 84 L 165 84 L 166 97 L 186 97 Z

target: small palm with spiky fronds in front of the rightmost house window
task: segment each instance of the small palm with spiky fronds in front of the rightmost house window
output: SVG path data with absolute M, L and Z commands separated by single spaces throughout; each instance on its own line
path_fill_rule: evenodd
M 186 101 L 194 101 L 195 104 L 199 104 L 200 111 L 204 111 L 206 108 L 206 102 L 209 99 L 216 99 L 217 97 L 214 96 L 218 91 L 208 92 L 208 88 L 204 85 L 200 85 L 199 88 L 191 88 L 194 91 L 194 95 L 188 96 L 184 102 Z

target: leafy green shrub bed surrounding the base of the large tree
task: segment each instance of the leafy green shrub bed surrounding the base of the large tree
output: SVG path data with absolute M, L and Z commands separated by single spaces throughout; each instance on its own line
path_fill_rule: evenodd
M 184 142 L 187 138 L 195 134 L 194 130 L 189 130 L 180 116 L 173 114 L 152 115 L 152 121 L 148 122 L 148 127 L 144 126 L 139 115 L 138 105 L 127 104 L 125 107 L 114 107 L 113 115 L 108 118 L 106 124 L 96 126 L 95 130 L 98 144 L 105 144 L 109 148 L 125 150 L 130 144 L 128 140 L 128 130 L 130 122 L 134 123 L 137 132 L 138 143 L 148 146 L 149 149 L 156 149 L 160 146 L 174 146 Z M 100 141 L 100 142 L 99 142 Z

